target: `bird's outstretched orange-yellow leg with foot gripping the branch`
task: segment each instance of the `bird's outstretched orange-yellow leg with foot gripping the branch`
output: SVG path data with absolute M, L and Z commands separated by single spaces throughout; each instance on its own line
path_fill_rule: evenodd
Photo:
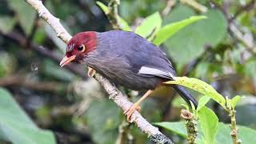
M 128 110 L 126 110 L 124 112 L 124 114 L 127 115 L 127 121 L 130 122 L 130 117 L 132 114 L 134 114 L 135 110 L 140 111 L 141 110 L 141 106 L 139 106 L 151 93 L 153 92 L 153 90 L 147 90 L 147 92 L 142 96 L 142 98 L 139 98 L 139 100 L 137 102 L 135 102 L 133 104 L 133 106 L 130 106 L 130 108 Z

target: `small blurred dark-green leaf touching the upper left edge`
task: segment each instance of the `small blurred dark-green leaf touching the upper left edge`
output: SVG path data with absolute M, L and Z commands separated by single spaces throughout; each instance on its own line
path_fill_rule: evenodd
M 8 16 L 0 17 L 0 31 L 2 31 L 3 34 L 8 34 L 11 30 L 13 30 L 15 23 L 16 18 Z

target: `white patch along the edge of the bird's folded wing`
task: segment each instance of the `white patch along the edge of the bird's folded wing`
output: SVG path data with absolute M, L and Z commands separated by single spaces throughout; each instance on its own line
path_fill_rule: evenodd
M 173 74 L 166 73 L 162 70 L 142 66 L 142 68 L 138 71 L 138 74 L 145 74 L 145 75 L 154 75 L 160 78 L 166 78 L 166 79 L 174 79 Z

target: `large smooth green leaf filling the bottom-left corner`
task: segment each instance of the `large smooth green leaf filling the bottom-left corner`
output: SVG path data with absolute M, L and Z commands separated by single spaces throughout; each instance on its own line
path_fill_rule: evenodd
M 54 144 L 49 130 L 39 129 L 11 97 L 0 88 L 0 138 L 14 144 Z

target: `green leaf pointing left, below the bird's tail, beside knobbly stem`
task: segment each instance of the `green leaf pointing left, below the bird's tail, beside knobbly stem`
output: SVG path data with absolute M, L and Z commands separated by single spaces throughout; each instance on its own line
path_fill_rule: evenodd
M 184 122 L 154 122 L 154 125 L 161 126 L 166 130 L 170 130 L 174 132 L 174 134 L 178 134 L 183 138 L 187 137 L 186 126 Z

